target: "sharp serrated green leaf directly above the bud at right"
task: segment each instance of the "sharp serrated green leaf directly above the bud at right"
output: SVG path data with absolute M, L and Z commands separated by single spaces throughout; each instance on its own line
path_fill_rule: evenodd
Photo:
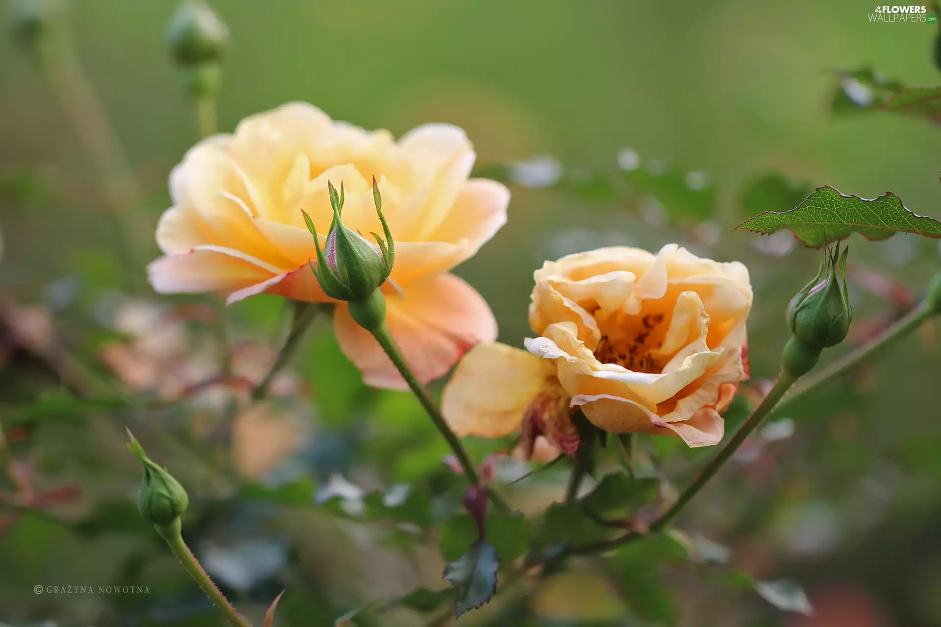
M 764 235 L 787 228 L 814 248 L 835 243 L 853 233 L 872 241 L 885 240 L 899 232 L 941 238 L 941 223 L 910 212 L 901 204 L 899 196 L 891 192 L 867 200 L 844 196 L 832 187 L 817 188 L 789 212 L 759 213 L 736 228 Z

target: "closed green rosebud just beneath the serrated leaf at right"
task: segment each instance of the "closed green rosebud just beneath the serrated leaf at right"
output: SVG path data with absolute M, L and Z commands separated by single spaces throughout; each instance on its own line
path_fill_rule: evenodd
M 848 252 L 845 248 L 840 254 L 838 243 L 828 249 L 817 277 L 790 301 L 790 332 L 808 349 L 821 351 L 836 346 L 850 330 L 853 309 L 846 287 Z

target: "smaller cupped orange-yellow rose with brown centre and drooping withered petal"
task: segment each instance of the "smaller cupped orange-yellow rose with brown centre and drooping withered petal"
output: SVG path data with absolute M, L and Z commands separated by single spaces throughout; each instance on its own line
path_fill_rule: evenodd
M 718 443 L 722 412 L 747 379 L 745 320 L 752 306 L 739 262 L 615 246 L 547 261 L 536 271 L 527 351 L 475 347 L 444 389 L 460 435 L 523 442 L 545 435 L 572 453 L 571 414 L 605 431 Z

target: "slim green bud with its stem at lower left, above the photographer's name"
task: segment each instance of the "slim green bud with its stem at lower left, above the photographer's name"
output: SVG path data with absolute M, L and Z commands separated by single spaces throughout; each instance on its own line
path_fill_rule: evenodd
M 209 574 L 203 570 L 199 560 L 183 541 L 181 533 L 183 523 L 180 515 L 189 504 L 183 486 L 167 472 L 166 468 L 161 468 L 147 457 L 144 448 L 140 446 L 131 431 L 127 434 L 130 438 L 127 447 L 144 466 L 144 479 L 140 487 L 137 509 L 147 521 L 153 524 L 160 537 L 167 541 L 167 546 L 173 555 L 177 556 L 186 572 L 189 572 L 193 580 L 199 584 L 199 588 L 202 588 L 210 601 L 215 603 L 229 624 L 232 627 L 251 627 L 248 621 L 232 607 L 219 588 L 215 587 Z

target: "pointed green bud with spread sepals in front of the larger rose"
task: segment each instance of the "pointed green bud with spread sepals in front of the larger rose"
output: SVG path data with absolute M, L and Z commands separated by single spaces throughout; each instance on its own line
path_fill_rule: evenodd
M 327 182 L 327 185 L 330 192 L 330 205 L 333 207 L 333 222 L 327 233 L 327 245 L 323 250 L 311 216 L 304 212 L 304 220 L 313 235 L 317 249 L 317 268 L 314 269 L 311 265 L 311 270 L 317 276 L 320 287 L 327 293 L 327 296 L 352 304 L 375 304 L 379 298 L 375 294 L 379 293 L 377 292 L 379 286 L 389 278 L 395 258 L 395 244 L 392 243 L 389 224 L 382 215 L 382 198 L 379 196 L 379 188 L 373 179 L 375 211 L 378 213 L 386 239 L 383 240 L 373 233 L 375 243 L 372 243 L 343 225 L 341 217 L 345 197 L 343 184 L 340 185 L 339 194 L 332 183 Z M 381 293 L 379 295 L 381 296 Z

